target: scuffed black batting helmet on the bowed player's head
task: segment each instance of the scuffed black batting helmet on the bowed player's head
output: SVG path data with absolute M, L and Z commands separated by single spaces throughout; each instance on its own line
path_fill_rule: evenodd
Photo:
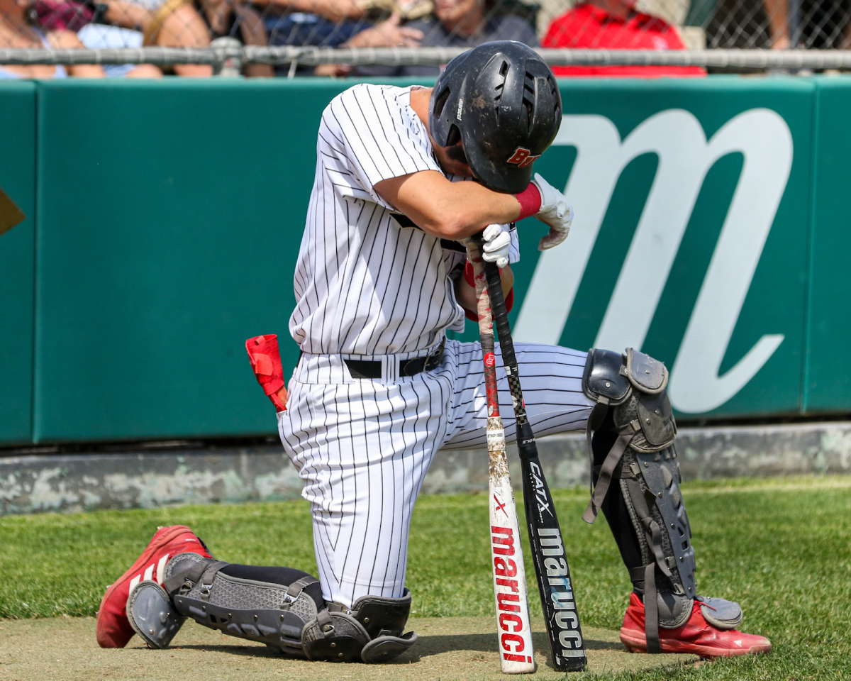
M 429 129 L 439 146 L 464 141 L 476 179 L 496 192 L 523 192 L 532 163 L 562 123 L 550 67 L 523 43 L 483 43 L 450 61 L 431 91 Z

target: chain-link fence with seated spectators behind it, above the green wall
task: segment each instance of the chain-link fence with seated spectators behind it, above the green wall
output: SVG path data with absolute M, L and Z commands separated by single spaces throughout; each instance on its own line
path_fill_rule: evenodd
M 0 0 L 0 78 L 432 76 L 505 39 L 558 75 L 844 69 L 849 19 L 851 0 Z

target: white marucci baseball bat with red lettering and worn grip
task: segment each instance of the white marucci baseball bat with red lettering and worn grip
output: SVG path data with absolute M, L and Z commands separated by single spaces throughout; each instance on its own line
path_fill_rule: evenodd
M 496 389 L 494 323 L 488 285 L 478 244 L 467 242 L 467 258 L 476 282 L 479 336 L 482 341 L 485 392 L 488 398 L 488 465 L 490 506 L 490 558 L 494 573 L 496 624 L 499 635 L 500 667 L 505 674 L 535 671 L 532 627 L 529 621 L 526 567 L 514 491 L 505 457 L 505 430 L 500 418 Z

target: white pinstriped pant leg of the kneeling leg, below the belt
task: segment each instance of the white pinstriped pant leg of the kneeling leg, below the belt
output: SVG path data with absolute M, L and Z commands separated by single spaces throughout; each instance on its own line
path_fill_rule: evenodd
M 311 502 L 323 598 L 351 606 L 367 594 L 403 595 L 411 512 L 445 438 L 453 375 L 385 385 L 339 369 L 334 381 L 290 381 L 278 427 Z

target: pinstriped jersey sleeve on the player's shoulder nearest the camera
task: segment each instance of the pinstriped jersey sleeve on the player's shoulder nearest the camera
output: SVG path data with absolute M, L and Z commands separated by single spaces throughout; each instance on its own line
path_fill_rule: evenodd
M 441 172 L 419 118 L 401 88 L 362 83 L 338 95 L 323 113 L 320 146 L 334 189 L 342 197 L 386 203 L 375 185 L 421 170 Z M 324 145 L 323 145 L 324 141 Z

